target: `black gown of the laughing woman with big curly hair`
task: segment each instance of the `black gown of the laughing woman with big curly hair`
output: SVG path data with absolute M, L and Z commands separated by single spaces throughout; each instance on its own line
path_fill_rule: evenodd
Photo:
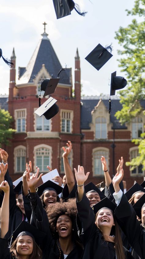
M 32 205 L 32 219 L 31 223 L 46 233 L 46 237 L 42 240 L 40 248 L 43 251 L 43 259 L 64 259 L 64 254 L 61 248 L 58 246 L 57 241 L 52 237 L 49 220 L 46 211 L 43 209 L 42 202 L 35 193 L 30 194 L 30 201 Z M 75 246 L 74 249 L 69 253 L 67 259 L 79 259 L 82 254 L 82 249 L 79 246 Z

